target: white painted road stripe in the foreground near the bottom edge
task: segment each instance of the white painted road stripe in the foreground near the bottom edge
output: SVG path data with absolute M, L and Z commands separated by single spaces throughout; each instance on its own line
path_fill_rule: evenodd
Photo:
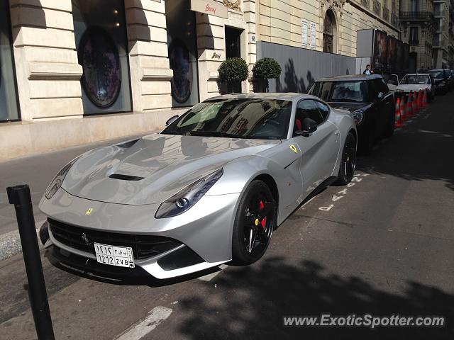
M 157 306 L 150 310 L 148 316 L 145 319 L 133 324 L 131 327 L 126 329 L 116 340 L 139 340 L 143 336 L 150 333 L 160 324 L 163 320 L 172 314 L 172 310 L 167 307 Z

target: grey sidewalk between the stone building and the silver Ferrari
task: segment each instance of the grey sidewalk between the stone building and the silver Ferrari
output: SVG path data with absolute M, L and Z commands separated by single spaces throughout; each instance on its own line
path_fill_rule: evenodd
M 13 206 L 8 203 L 6 187 L 18 184 L 28 184 L 30 186 L 35 224 L 36 228 L 39 228 L 46 217 L 38 210 L 38 203 L 50 181 L 67 162 L 90 149 L 140 136 L 142 135 L 68 147 L 55 152 L 0 162 L 0 261 L 21 251 L 16 214 Z

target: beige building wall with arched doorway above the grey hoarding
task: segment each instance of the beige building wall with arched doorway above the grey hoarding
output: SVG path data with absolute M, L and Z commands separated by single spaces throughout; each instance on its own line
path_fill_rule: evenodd
M 398 4 L 388 0 L 257 0 L 258 40 L 356 56 L 357 30 L 399 38 Z

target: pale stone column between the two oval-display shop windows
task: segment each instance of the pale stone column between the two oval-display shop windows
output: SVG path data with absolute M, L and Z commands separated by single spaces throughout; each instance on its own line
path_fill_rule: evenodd
M 134 111 L 172 108 L 165 2 L 125 0 Z

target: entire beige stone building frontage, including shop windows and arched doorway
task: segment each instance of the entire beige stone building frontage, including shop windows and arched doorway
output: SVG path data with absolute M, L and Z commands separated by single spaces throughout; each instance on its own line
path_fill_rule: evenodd
M 0 160 L 162 128 L 257 42 L 354 57 L 389 0 L 0 0 Z M 251 73 L 252 75 L 252 73 Z M 241 90 L 253 90 L 250 79 Z

